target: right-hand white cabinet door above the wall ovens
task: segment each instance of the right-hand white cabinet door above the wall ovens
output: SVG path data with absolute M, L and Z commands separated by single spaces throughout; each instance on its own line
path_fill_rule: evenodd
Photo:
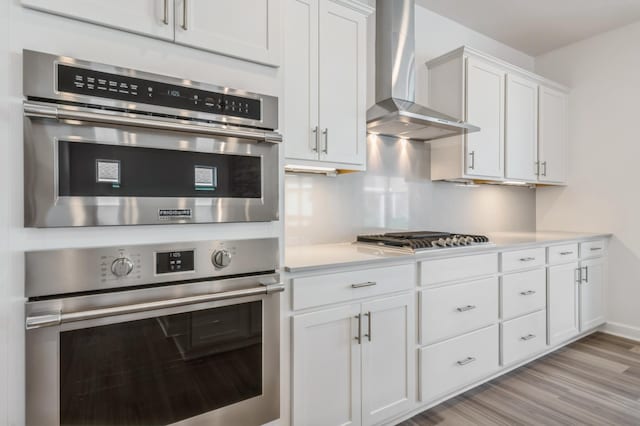
M 176 42 L 280 66 L 281 0 L 176 0 Z

